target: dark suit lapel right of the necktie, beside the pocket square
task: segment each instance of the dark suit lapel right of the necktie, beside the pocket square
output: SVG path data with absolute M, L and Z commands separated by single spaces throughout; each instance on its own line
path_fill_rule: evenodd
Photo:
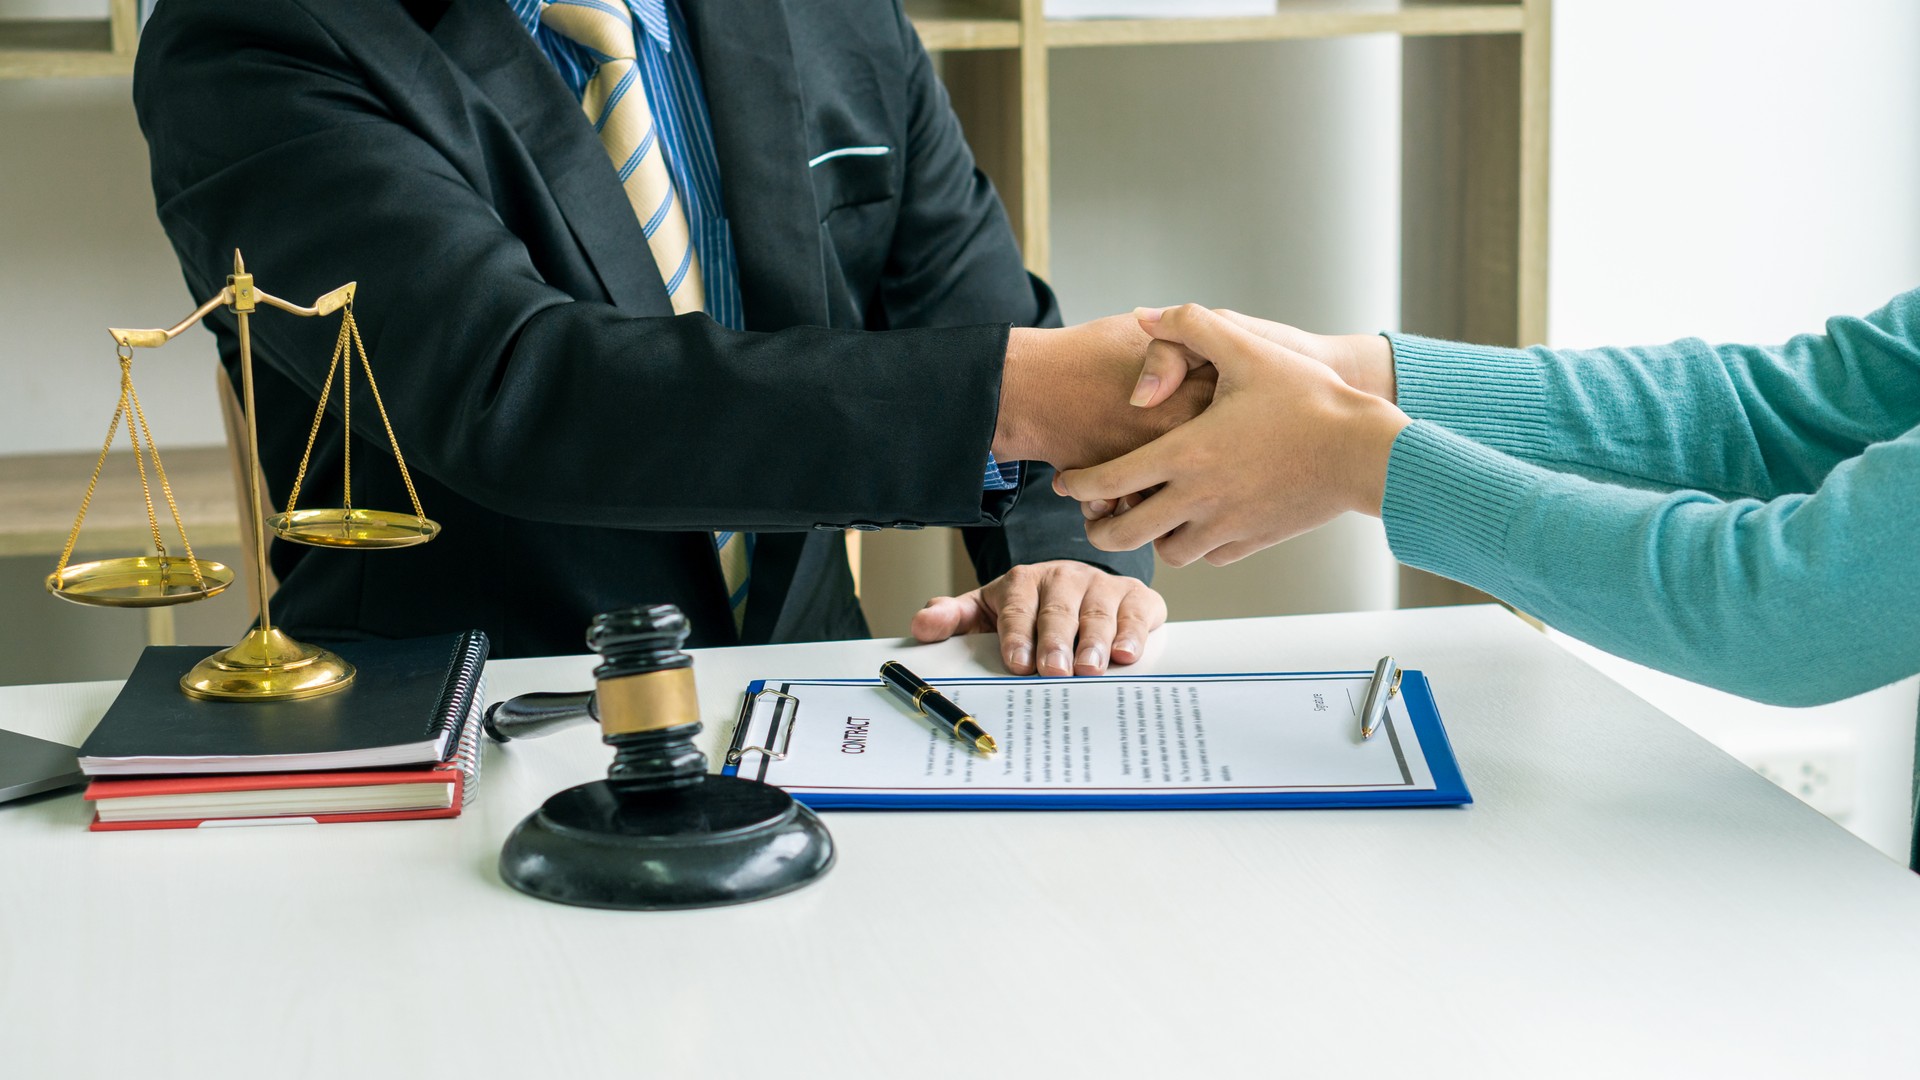
M 749 331 L 828 325 L 806 110 L 781 0 L 685 0 Z

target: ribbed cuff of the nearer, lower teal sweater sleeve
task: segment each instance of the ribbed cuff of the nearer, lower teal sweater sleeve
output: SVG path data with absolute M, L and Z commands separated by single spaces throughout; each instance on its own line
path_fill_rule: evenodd
M 1380 519 L 1394 557 L 1494 596 L 1511 594 L 1507 528 L 1534 471 L 1430 421 L 1413 421 L 1386 457 Z

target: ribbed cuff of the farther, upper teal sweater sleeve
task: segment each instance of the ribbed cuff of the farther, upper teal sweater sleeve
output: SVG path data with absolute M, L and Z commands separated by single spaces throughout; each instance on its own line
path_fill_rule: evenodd
M 1530 352 L 1386 334 L 1400 411 L 1503 450 L 1548 457 L 1546 365 Z

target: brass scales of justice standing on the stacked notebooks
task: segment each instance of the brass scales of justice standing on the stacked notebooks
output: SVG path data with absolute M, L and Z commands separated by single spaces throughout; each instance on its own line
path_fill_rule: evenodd
M 186 538 L 186 527 L 180 523 L 180 509 L 173 502 L 173 486 L 167 482 L 167 471 L 159 461 L 159 448 L 154 444 L 154 432 L 146 423 L 146 411 L 140 407 L 140 396 L 132 386 L 132 350 L 159 348 L 221 306 L 234 313 L 234 321 L 240 331 L 240 392 L 242 411 L 246 415 L 246 513 L 255 523 L 255 528 L 252 530 L 253 552 L 248 569 L 252 571 L 253 598 L 259 601 L 259 621 L 244 638 L 240 638 L 236 646 L 209 655 L 180 676 L 180 690 L 190 698 L 217 701 L 284 701 L 294 698 L 317 698 L 321 694 L 342 690 L 353 682 L 353 665 L 346 659 L 319 646 L 298 642 L 273 625 L 273 617 L 267 611 L 269 530 L 282 540 L 311 544 L 315 548 L 407 548 L 413 544 L 424 544 L 440 534 L 440 525 L 428 521 L 426 511 L 420 509 L 420 496 L 413 490 L 413 477 L 407 473 L 407 459 L 399 454 L 399 438 L 394 436 L 394 425 L 388 421 L 386 404 L 380 400 L 380 386 L 372 379 L 372 363 L 367 359 L 367 346 L 361 344 L 359 327 L 353 323 L 353 290 L 355 282 L 348 282 L 315 300 L 311 307 L 290 304 L 255 288 L 253 275 L 246 273 L 246 263 L 236 250 L 234 273 L 227 277 L 227 288 L 223 288 L 213 300 L 207 300 L 194 309 L 192 315 L 180 319 L 179 325 L 165 331 L 108 331 L 113 336 L 121 367 L 119 404 L 113 407 L 111 423 L 108 423 L 108 440 L 100 448 L 100 461 L 94 463 L 92 479 L 86 480 L 86 496 L 81 500 L 81 513 L 73 519 L 73 530 L 67 534 L 67 544 L 60 553 L 60 565 L 46 577 L 46 590 L 54 596 L 71 600 L 73 603 L 88 603 L 96 607 L 161 607 L 169 603 L 192 603 L 196 600 L 217 596 L 232 584 L 234 573 L 221 563 L 196 557 L 194 546 Z M 313 429 L 307 432 L 307 448 L 300 457 L 300 473 L 294 477 L 292 494 L 286 500 L 286 511 L 275 515 L 265 513 L 265 496 L 261 492 L 259 436 L 257 417 L 253 413 L 253 346 L 248 327 L 248 319 L 261 304 L 303 317 L 332 315 L 334 311 L 342 313 L 340 336 L 334 342 L 334 359 L 326 369 L 326 380 L 321 384 L 321 400 L 313 411 Z M 394 461 L 399 465 L 399 479 L 407 486 L 407 498 L 413 502 L 413 513 L 359 509 L 353 505 L 353 356 L 359 356 L 361 371 L 367 375 L 367 388 L 372 392 L 372 404 L 380 413 L 380 425 L 386 429 L 388 444 L 394 448 Z M 307 461 L 313 457 L 313 442 L 319 438 L 321 423 L 326 417 L 326 402 L 332 396 L 334 375 L 340 375 L 342 411 L 344 423 L 348 425 L 342 463 L 344 505 L 330 509 L 296 509 L 300 503 L 300 486 L 307 479 Z M 146 521 L 154 538 L 154 553 L 69 565 L 73 546 L 81 536 L 81 525 L 86 521 L 86 507 L 92 503 L 94 488 L 100 484 L 100 469 L 108 461 L 108 452 L 113 448 L 113 436 L 119 432 L 119 425 L 123 421 L 127 425 L 127 440 L 132 442 L 134 467 L 140 473 L 140 492 L 146 498 Z M 142 454 L 146 459 L 142 459 Z M 167 544 L 161 538 L 159 515 L 154 509 L 154 488 L 148 482 L 148 461 L 152 461 L 154 467 L 154 482 L 159 486 L 167 511 L 173 515 L 173 528 L 180 536 L 180 555 L 169 553 Z

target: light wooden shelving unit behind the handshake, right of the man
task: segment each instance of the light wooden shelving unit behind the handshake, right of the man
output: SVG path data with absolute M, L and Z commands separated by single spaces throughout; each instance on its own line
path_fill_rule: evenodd
M 1551 0 L 1281 0 L 1240 19 L 1046 19 L 1044 0 L 908 0 L 1029 269 L 1050 261 L 1048 54 L 1400 35 L 1404 331 L 1482 344 L 1546 338 Z M 970 588 L 966 561 L 954 586 Z M 1480 600 L 1402 571 L 1402 603 Z

